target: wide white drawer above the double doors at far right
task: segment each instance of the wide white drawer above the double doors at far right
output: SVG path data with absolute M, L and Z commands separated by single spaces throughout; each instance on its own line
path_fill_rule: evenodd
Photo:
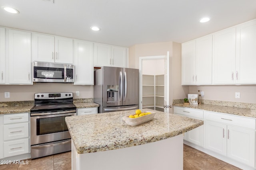
M 240 117 L 234 115 L 227 115 L 224 113 L 217 113 L 211 111 L 204 111 L 204 118 L 210 121 L 216 121 L 228 125 L 240 126 L 250 129 L 255 129 L 255 119 L 247 117 Z

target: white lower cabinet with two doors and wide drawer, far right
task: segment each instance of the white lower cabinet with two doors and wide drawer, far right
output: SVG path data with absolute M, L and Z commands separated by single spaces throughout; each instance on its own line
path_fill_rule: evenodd
M 209 111 L 204 114 L 205 148 L 255 166 L 255 119 Z M 236 123 L 239 119 L 240 124 Z

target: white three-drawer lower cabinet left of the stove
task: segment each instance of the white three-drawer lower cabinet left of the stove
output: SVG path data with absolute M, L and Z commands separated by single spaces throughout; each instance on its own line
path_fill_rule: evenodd
M 0 154 L 0 158 L 28 153 L 28 113 L 6 114 L 0 117 L 0 121 L 2 125 L 0 126 L 0 153 L 3 153 L 3 155 Z

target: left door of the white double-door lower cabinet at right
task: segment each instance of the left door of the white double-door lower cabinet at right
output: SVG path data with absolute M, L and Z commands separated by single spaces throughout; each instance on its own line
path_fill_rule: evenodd
M 226 156 L 226 125 L 212 121 L 205 121 L 204 127 L 205 148 Z

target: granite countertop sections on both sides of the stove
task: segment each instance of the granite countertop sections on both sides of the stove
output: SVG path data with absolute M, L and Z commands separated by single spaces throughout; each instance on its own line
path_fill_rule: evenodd
M 94 102 L 81 102 L 81 103 L 74 103 L 76 108 L 85 108 L 85 107 L 98 107 L 99 105 Z M 0 114 L 10 114 L 10 113 L 25 113 L 30 112 L 30 109 L 34 105 L 29 106 L 4 106 L 0 107 Z

